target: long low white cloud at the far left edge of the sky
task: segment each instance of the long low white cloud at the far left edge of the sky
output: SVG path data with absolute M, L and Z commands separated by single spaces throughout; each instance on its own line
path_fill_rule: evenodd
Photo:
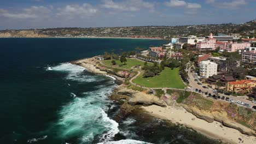
M 19 13 L 11 13 L 8 10 L 0 9 L 0 16 L 11 19 L 35 19 L 38 17 L 48 17 L 50 13 L 51 10 L 43 6 L 32 6 L 30 8 L 22 9 Z

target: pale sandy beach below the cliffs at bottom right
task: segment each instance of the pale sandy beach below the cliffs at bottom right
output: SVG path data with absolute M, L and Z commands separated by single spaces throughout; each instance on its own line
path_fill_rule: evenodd
M 187 112 L 183 107 L 160 107 L 152 105 L 143 106 L 142 108 L 152 116 L 167 119 L 173 123 L 183 124 L 188 128 L 193 128 L 203 135 L 211 137 L 212 139 L 222 140 L 229 143 L 256 143 L 255 136 L 242 134 L 240 131 L 225 127 L 216 121 L 208 123 L 202 119 L 196 118 L 196 116 Z M 242 141 L 238 140 L 238 138 L 241 138 Z

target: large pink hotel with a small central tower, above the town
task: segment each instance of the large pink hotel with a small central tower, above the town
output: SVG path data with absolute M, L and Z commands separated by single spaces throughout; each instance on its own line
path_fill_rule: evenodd
M 196 48 L 200 51 L 215 50 L 217 47 L 219 47 L 220 50 L 235 52 L 237 50 L 243 50 L 248 46 L 251 46 L 251 44 L 216 41 L 216 39 L 213 38 L 212 33 L 210 34 L 210 38 L 207 38 L 205 41 L 199 41 L 199 43 L 196 44 Z

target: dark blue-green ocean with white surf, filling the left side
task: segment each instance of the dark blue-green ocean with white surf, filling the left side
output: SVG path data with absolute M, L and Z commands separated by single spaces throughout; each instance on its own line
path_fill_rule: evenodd
M 146 39 L 0 38 L 0 143 L 197 142 L 195 132 L 177 126 L 167 129 L 159 119 L 139 121 L 138 115 L 117 123 L 114 117 L 119 105 L 108 99 L 118 86 L 114 77 L 91 74 L 69 63 L 105 51 L 120 53 L 165 43 Z M 150 125 L 152 122 L 155 125 Z M 161 131 L 164 128 L 166 133 Z M 154 131 L 158 138 L 152 137 Z

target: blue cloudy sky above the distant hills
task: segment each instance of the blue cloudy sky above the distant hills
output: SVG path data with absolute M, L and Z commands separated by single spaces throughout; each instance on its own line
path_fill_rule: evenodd
M 255 9 L 256 0 L 0 0 L 0 29 L 243 23 Z

